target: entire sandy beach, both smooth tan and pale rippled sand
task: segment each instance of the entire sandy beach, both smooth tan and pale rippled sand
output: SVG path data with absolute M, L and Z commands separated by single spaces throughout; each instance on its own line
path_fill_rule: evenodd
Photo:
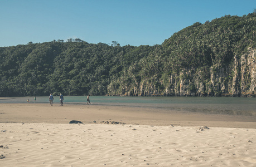
M 1 166 L 256 166 L 255 134 L 255 116 L 0 104 Z

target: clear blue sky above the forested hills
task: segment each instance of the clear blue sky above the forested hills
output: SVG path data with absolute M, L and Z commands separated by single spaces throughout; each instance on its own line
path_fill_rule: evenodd
M 195 22 L 255 8 L 255 0 L 0 0 L 0 47 L 69 38 L 153 46 Z

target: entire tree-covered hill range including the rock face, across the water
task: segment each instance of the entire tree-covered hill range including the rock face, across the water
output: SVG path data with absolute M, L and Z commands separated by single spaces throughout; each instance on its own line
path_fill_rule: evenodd
M 256 94 L 256 14 L 195 23 L 155 46 L 0 47 L 0 96 Z

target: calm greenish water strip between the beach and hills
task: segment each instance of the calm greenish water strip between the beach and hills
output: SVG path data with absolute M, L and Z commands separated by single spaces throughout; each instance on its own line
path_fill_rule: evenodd
M 54 104 L 59 104 L 59 96 L 54 97 Z M 49 103 L 48 96 L 36 97 L 1 97 L 0 103 Z M 125 107 L 150 107 L 162 112 L 204 112 L 207 114 L 230 114 L 256 116 L 256 98 L 245 97 L 113 97 L 90 96 L 92 105 Z M 65 104 L 87 103 L 86 96 L 64 96 Z

